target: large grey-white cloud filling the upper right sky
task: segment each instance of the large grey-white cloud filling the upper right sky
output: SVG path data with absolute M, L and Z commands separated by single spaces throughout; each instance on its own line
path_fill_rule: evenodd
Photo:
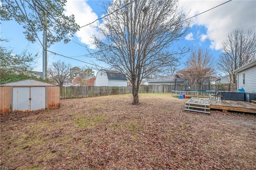
M 186 11 L 190 10 L 189 17 L 218 6 L 225 1 L 189 1 L 183 0 Z M 193 25 L 200 25 L 207 28 L 206 36 L 211 41 L 213 49 L 220 49 L 221 43 L 226 39 L 227 34 L 233 29 L 243 28 L 256 31 L 256 1 L 233 0 L 204 14 L 193 18 Z M 193 27 L 192 25 L 192 27 Z M 201 41 L 206 36 L 201 36 Z

